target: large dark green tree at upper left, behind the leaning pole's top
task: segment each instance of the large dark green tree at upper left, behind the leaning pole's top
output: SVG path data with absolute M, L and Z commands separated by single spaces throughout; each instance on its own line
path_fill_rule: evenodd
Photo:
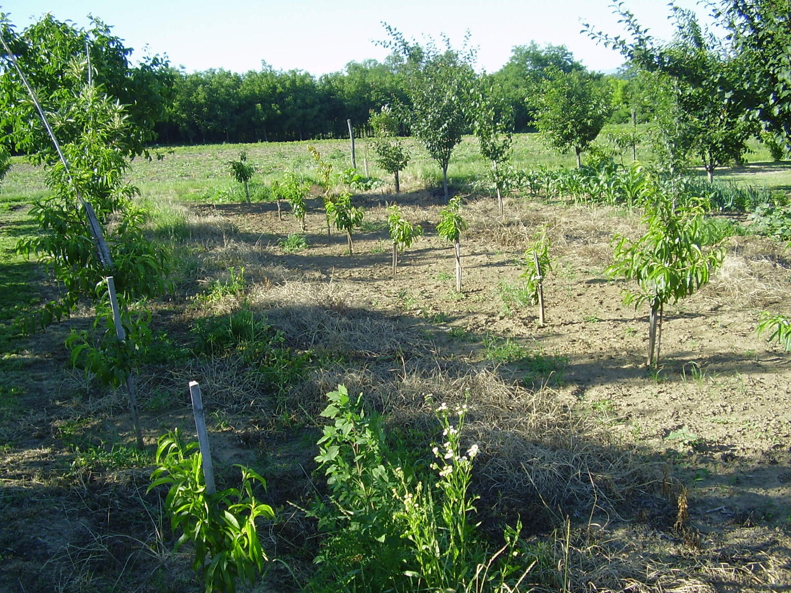
M 126 106 L 129 125 L 120 130 L 121 138 L 115 149 L 126 156 L 147 154 L 146 145 L 156 138 L 154 125 L 165 120 L 173 71 L 167 60 L 158 55 L 145 56 L 138 66 L 131 67 L 127 61 L 131 48 L 112 35 L 109 25 L 96 18 L 90 21 L 87 30 L 78 29 L 47 14 L 17 33 L 3 17 L 0 29 L 21 70 L 36 89 L 44 111 L 57 117 L 63 110 L 65 115 L 74 97 L 83 93 L 82 86 L 90 74 L 93 85 L 107 93 L 110 103 Z M 27 89 L 5 55 L 2 61 L 0 127 L 9 134 L 9 143 L 14 148 L 38 162 L 51 163 L 56 158 L 55 149 Z M 77 119 L 74 123 L 81 121 Z M 63 144 L 79 142 L 79 125 L 62 126 L 55 131 Z

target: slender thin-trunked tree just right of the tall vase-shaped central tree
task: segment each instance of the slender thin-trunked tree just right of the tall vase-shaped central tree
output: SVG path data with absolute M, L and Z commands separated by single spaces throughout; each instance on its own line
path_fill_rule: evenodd
M 481 156 L 491 163 L 489 175 L 497 192 L 500 216 L 504 216 L 502 193 L 505 190 L 505 165 L 511 157 L 513 138 L 509 131 L 512 116 L 509 106 L 502 100 L 502 94 L 495 93 L 494 87 L 478 89 L 471 104 L 473 127 L 478 137 Z

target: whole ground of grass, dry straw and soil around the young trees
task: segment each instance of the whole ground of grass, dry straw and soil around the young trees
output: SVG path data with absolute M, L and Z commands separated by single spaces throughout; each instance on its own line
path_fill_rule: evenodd
M 315 517 L 331 491 L 314 459 L 321 412 L 341 383 L 382 414 L 388 455 L 423 481 L 437 479 L 432 448 L 445 440 L 433 410 L 469 407 L 460 437 L 480 450 L 476 541 L 494 553 L 520 520 L 520 591 L 791 587 L 791 359 L 755 334 L 761 311 L 789 313 L 786 244 L 748 229 L 730 236 L 717 277 L 668 307 L 662 365 L 649 370 L 647 311 L 623 305 L 625 283 L 604 275 L 611 236 L 634 236 L 638 212 L 514 194 L 500 219 L 465 138 L 448 171 L 469 225 L 459 293 L 452 247 L 435 230 L 441 172 L 425 151 L 414 147 L 395 195 L 358 141 L 358 168 L 367 159 L 386 183 L 354 195 L 365 224 L 351 256 L 345 236 L 327 235 L 317 187 L 307 232 L 267 199 L 286 167 L 315 176 L 308 144 L 335 172 L 350 166 L 339 141 L 185 146 L 133 162 L 149 232 L 175 263 L 137 376 L 145 451 L 134 448 L 125 392 L 71 367 L 63 341 L 89 330 L 88 308 L 41 334 L 14 330 L 17 315 L 58 291 L 13 251 L 37 232 L 29 208 L 46 195 L 41 172 L 15 159 L 0 194 L 0 590 L 202 590 L 191 546 L 173 551 L 166 490 L 147 490 L 157 438 L 195 430 L 191 380 L 202 386 L 218 484 L 238 486 L 234 464 L 249 466 L 276 511 L 259 530 L 278 562 L 251 591 L 345 591 L 339 571 L 386 565 L 386 548 L 355 548 L 354 532 L 334 537 Z M 791 166 L 755 148 L 717 179 L 787 191 Z M 226 172 L 242 149 L 257 168 L 250 205 Z M 573 156 L 520 134 L 514 164 L 556 168 Z M 424 231 L 395 279 L 392 202 Z M 554 264 L 545 326 L 522 278 L 542 228 Z

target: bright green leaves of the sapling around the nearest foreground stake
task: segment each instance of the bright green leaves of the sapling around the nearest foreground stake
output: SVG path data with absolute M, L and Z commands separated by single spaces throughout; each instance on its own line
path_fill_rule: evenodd
M 202 576 L 206 593 L 233 593 L 238 580 L 252 583 L 268 561 L 255 519 L 274 519 L 274 512 L 268 504 L 259 503 L 254 493 L 257 484 L 264 488 L 267 484 L 253 470 L 235 467 L 241 470 L 241 488 L 206 493 L 198 444 L 185 445 L 177 430 L 159 439 L 157 469 L 148 490 L 170 486 L 165 508 L 172 531 L 181 532 L 176 550 L 185 542 L 195 546 L 192 568 Z

